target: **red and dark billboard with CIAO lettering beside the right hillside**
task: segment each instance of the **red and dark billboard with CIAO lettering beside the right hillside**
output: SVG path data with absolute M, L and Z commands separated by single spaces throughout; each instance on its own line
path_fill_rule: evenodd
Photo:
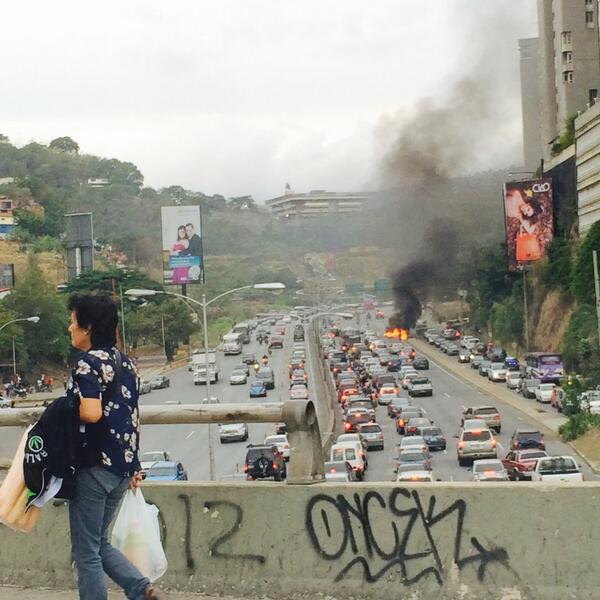
M 554 235 L 552 180 L 505 183 L 504 221 L 510 271 L 546 256 Z

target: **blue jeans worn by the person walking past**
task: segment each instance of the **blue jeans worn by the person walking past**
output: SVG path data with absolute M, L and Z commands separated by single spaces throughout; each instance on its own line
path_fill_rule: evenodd
M 108 541 L 110 524 L 130 481 L 103 467 L 77 473 L 77 493 L 69 502 L 69 522 L 81 600 L 107 600 L 106 575 L 123 588 L 130 600 L 142 599 L 150 585 Z

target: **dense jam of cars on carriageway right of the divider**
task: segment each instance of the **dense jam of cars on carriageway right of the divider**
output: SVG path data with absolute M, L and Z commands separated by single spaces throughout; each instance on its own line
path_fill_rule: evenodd
M 380 314 L 375 318 L 381 319 Z M 480 348 L 478 340 L 469 349 L 461 348 L 456 330 L 449 329 L 445 337 L 438 329 L 422 333 L 432 344 L 445 344 L 447 353 L 459 360 L 465 351 Z M 339 324 L 330 323 L 321 331 L 320 347 L 335 383 L 343 430 L 325 465 L 327 480 L 583 480 L 576 458 L 553 453 L 539 428 L 520 424 L 505 431 L 501 439 L 502 412 L 491 397 L 461 406 L 449 420 L 446 397 L 450 395 L 434 389 L 430 361 L 416 352 L 407 330 L 387 328 L 378 334 L 374 329 L 340 329 Z M 499 360 L 484 355 L 474 364 L 481 366 L 485 360 L 490 381 L 507 381 L 504 360 L 500 369 L 494 358 Z M 377 473 L 371 475 L 382 452 L 386 458 L 377 458 Z M 456 461 L 451 471 L 449 455 Z M 437 469 L 441 456 L 446 477 Z

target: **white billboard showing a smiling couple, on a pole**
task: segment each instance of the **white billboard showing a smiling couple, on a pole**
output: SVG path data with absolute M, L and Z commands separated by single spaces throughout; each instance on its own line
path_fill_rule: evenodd
M 202 217 L 199 206 L 163 206 L 163 283 L 204 283 Z

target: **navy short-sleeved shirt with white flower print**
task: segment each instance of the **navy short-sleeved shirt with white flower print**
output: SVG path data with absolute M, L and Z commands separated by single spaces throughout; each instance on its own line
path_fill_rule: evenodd
M 102 465 L 115 475 L 131 477 L 140 470 L 139 377 L 135 365 L 115 348 L 84 352 L 73 369 L 67 396 L 102 400 L 98 423 L 81 426 L 80 467 Z

